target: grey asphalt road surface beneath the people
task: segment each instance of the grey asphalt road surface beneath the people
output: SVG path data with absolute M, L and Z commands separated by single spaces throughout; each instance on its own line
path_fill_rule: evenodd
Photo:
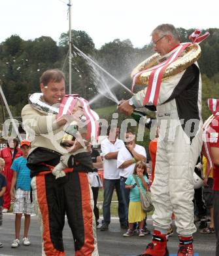
M 24 219 L 22 219 L 23 230 Z M 147 221 L 148 228 L 152 230 L 152 221 Z M 146 235 L 143 238 L 131 236 L 124 238 L 122 234 L 126 230 L 121 230 L 117 219 L 113 219 L 108 231 L 97 230 L 97 241 L 99 256 L 134 256 L 144 251 L 146 244 L 150 242 L 152 236 Z M 22 233 L 21 233 L 22 234 Z M 31 226 L 29 228 L 29 239 L 31 245 L 20 245 L 18 248 L 11 248 L 10 245 L 14 240 L 14 215 L 5 213 L 3 215 L 3 226 L 0 229 L 0 240 L 3 248 L 0 248 L 0 256 L 41 256 L 41 233 L 39 230 L 37 217 L 31 217 Z M 63 231 L 63 241 L 65 244 L 66 256 L 75 255 L 73 237 L 71 230 L 65 224 Z M 171 255 L 177 253 L 178 237 L 175 233 L 169 238 L 168 248 Z M 194 251 L 195 256 L 215 256 L 215 236 L 214 234 L 194 234 Z

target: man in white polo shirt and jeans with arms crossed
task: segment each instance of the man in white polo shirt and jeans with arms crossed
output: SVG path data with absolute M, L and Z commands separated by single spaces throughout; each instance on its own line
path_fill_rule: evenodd
M 121 228 L 127 228 L 125 207 L 120 190 L 120 170 L 117 168 L 118 152 L 124 147 L 124 142 L 118 139 L 119 134 L 119 127 L 111 125 L 107 129 L 107 138 L 101 142 L 101 151 L 104 157 L 103 224 L 101 226 L 101 231 L 109 229 L 110 205 L 114 188 L 116 188 L 118 198 L 120 226 Z

